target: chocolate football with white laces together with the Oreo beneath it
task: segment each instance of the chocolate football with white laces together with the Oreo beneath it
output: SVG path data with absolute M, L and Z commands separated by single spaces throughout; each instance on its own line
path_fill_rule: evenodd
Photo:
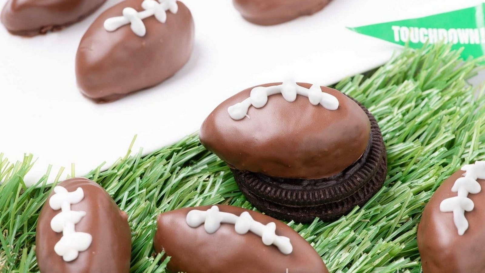
M 336 219 L 367 202 L 387 173 L 371 113 L 319 85 L 243 90 L 210 114 L 199 137 L 226 161 L 253 205 L 282 219 Z

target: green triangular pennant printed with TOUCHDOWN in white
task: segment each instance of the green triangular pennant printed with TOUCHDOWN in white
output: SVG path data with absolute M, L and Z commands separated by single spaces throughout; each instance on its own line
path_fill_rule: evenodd
M 466 9 L 386 22 L 348 29 L 398 45 L 408 43 L 420 48 L 425 43 L 444 42 L 453 49 L 463 47 L 461 56 L 479 57 L 485 54 L 485 3 Z

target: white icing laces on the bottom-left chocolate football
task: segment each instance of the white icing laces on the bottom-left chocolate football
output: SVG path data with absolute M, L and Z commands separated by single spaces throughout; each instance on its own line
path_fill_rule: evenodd
M 50 228 L 62 232 L 61 239 L 54 245 L 54 251 L 66 262 L 75 260 L 79 252 L 85 251 L 91 245 L 93 237 L 89 233 L 76 232 L 75 224 L 86 215 L 85 211 L 71 210 L 71 205 L 78 204 L 84 198 L 82 188 L 68 192 L 61 186 L 54 188 L 55 194 L 50 197 L 49 205 L 53 210 L 62 211 L 52 218 Z

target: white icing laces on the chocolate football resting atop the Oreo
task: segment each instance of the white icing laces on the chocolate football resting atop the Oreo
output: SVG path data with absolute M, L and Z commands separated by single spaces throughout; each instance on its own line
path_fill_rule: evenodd
M 249 98 L 242 102 L 238 102 L 227 108 L 227 112 L 231 119 L 240 120 L 248 117 L 247 111 L 252 105 L 255 108 L 261 108 L 268 102 L 268 97 L 271 95 L 281 94 L 287 102 L 294 102 L 296 95 L 302 95 L 308 98 L 313 105 L 322 105 L 328 110 L 337 110 L 339 108 L 339 100 L 333 95 L 322 92 L 320 85 L 312 85 L 309 89 L 297 85 L 292 81 L 285 81 L 282 85 L 274 86 L 258 86 L 251 90 Z

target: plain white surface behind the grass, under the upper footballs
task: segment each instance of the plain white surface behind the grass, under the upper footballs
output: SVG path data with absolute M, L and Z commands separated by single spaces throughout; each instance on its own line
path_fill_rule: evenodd
M 3 4 L 6 0 L 0 0 Z M 117 102 L 96 104 L 76 86 L 74 59 L 85 30 L 104 10 L 57 33 L 22 38 L 0 27 L 0 152 L 10 161 L 37 159 L 27 182 L 53 165 L 83 175 L 126 153 L 145 154 L 196 131 L 226 98 L 282 81 L 329 85 L 379 66 L 398 46 L 353 33 L 361 26 L 473 6 L 480 0 L 333 0 L 323 11 L 272 27 L 240 17 L 231 0 L 183 0 L 196 28 L 190 62 L 173 78 Z

